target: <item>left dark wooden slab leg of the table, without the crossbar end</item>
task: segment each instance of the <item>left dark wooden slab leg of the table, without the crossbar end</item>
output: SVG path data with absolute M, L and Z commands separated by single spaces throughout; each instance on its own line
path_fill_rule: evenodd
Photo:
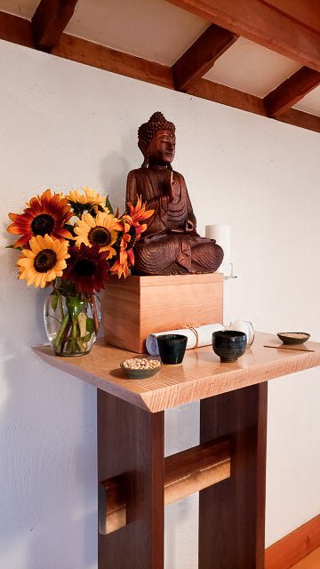
M 126 525 L 99 534 L 99 569 L 164 567 L 164 413 L 98 389 L 99 481 L 121 476 Z

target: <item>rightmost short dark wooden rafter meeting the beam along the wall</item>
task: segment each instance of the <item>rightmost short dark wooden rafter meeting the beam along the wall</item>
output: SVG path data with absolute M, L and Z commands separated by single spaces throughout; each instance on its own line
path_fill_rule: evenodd
M 320 39 L 319 39 L 320 41 Z M 308 92 L 320 84 L 320 73 L 315 69 L 300 68 L 264 98 L 268 116 L 282 115 Z

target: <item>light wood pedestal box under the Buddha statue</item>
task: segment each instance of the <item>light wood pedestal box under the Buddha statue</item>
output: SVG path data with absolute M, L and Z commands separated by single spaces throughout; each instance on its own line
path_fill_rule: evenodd
M 222 323 L 223 275 L 128 276 L 106 285 L 107 344 L 139 354 L 150 333 Z

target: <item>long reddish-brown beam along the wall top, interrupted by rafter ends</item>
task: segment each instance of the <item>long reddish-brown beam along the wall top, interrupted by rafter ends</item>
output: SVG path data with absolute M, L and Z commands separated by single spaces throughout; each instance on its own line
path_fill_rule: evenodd
M 34 46 L 30 22 L 4 12 L 0 12 L 0 39 L 15 44 L 28 45 L 28 47 Z M 106 69 L 112 73 L 157 84 L 167 89 L 174 89 L 172 68 L 127 53 L 117 52 L 75 36 L 62 34 L 59 42 L 54 46 L 52 54 L 95 68 Z M 226 85 L 200 79 L 188 88 L 188 93 L 229 107 L 240 108 L 256 115 L 267 116 L 263 99 Z M 290 109 L 284 115 L 276 117 L 276 120 L 320 132 L 319 116 L 309 115 L 295 109 Z

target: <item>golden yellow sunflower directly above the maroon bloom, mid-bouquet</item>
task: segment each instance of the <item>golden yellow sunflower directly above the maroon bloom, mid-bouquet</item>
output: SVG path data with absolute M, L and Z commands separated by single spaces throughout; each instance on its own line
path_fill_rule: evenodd
M 112 247 L 116 243 L 119 231 L 123 230 L 122 224 L 111 213 L 98 212 L 96 217 L 90 213 L 84 213 L 75 227 L 76 245 L 84 243 L 92 247 L 99 245 L 100 251 L 108 251 L 108 259 L 116 255 L 116 249 Z

